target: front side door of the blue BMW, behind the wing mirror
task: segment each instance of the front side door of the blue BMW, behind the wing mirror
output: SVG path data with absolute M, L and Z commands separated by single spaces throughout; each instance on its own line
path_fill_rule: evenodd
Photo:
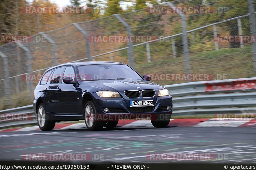
M 72 77 L 75 80 L 75 71 L 72 66 L 67 66 L 65 68 L 63 79 L 65 77 Z M 78 97 L 77 84 L 65 84 L 63 82 L 59 85 L 61 91 L 59 91 L 59 110 L 60 113 L 78 113 L 78 102 L 80 101 Z

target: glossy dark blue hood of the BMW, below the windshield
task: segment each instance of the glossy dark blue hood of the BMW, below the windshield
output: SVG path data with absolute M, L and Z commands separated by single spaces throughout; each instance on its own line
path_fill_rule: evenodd
M 81 85 L 98 87 L 108 91 L 125 91 L 125 90 L 159 90 L 164 89 L 163 86 L 151 81 L 143 80 L 97 80 L 82 81 Z

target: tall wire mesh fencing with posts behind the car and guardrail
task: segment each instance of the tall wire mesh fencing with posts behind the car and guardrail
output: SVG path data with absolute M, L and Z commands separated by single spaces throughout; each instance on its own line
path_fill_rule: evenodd
M 115 61 L 162 84 L 254 77 L 255 1 L 178 0 L 0 46 L 0 109 L 32 103 L 48 68 Z

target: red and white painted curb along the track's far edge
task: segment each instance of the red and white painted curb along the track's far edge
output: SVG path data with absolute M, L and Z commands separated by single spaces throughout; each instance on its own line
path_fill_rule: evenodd
M 171 119 L 169 127 L 256 127 L 256 119 Z M 154 127 L 150 120 L 120 120 L 117 127 Z M 56 124 L 54 130 L 85 129 L 85 123 Z M 2 129 L 0 132 L 39 131 L 38 126 Z

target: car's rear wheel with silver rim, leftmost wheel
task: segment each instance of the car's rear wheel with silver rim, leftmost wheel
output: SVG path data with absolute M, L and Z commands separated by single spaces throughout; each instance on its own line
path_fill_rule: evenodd
M 36 117 L 41 131 L 51 131 L 54 128 L 55 122 L 48 120 L 44 103 L 38 106 Z

